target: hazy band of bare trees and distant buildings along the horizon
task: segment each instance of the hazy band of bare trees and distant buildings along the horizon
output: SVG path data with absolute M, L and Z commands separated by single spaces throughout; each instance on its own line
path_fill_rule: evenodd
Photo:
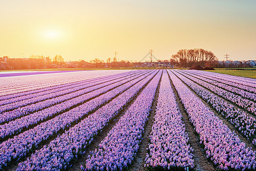
M 149 53 L 149 60 L 143 59 L 139 62 L 129 60 L 117 60 L 116 56 L 108 58 L 106 61 L 95 58 L 86 62 L 65 61 L 61 55 L 54 58 L 43 55 L 31 55 L 29 58 L 10 58 L 3 56 L 0 58 L 0 70 L 30 70 L 45 68 L 128 68 L 128 67 L 149 67 L 149 68 L 189 68 L 192 66 L 212 67 L 212 68 L 243 68 L 255 67 L 256 60 L 218 60 L 210 51 L 202 49 L 180 50 L 172 55 L 170 59 L 152 60 L 152 53 Z M 155 56 L 153 56 L 155 57 Z

